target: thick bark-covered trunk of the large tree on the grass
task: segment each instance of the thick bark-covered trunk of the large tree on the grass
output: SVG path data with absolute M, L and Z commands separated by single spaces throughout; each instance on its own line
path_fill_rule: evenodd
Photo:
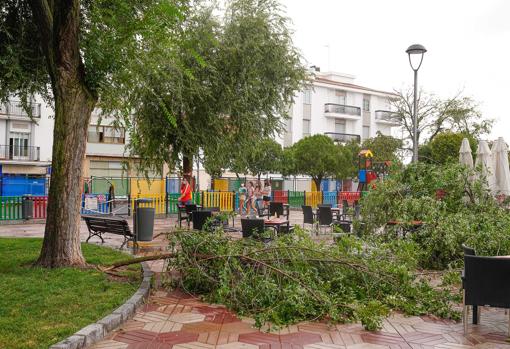
M 97 95 L 87 86 L 80 55 L 80 1 L 30 0 L 40 29 L 55 101 L 53 156 L 46 227 L 36 264 L 85 265 L 80 245 L 81 175 Z

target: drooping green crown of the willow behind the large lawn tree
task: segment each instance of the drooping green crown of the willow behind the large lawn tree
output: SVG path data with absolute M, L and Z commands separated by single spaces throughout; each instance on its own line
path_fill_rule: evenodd
M 190 173 L 202 153 L 221 168 L 281 131 L 308 73 L 277 1 L 195 3 L 178 37 L 178 60 L 160 62 L 144 102 L 123 115 L 143 167 L 182 163 Z

